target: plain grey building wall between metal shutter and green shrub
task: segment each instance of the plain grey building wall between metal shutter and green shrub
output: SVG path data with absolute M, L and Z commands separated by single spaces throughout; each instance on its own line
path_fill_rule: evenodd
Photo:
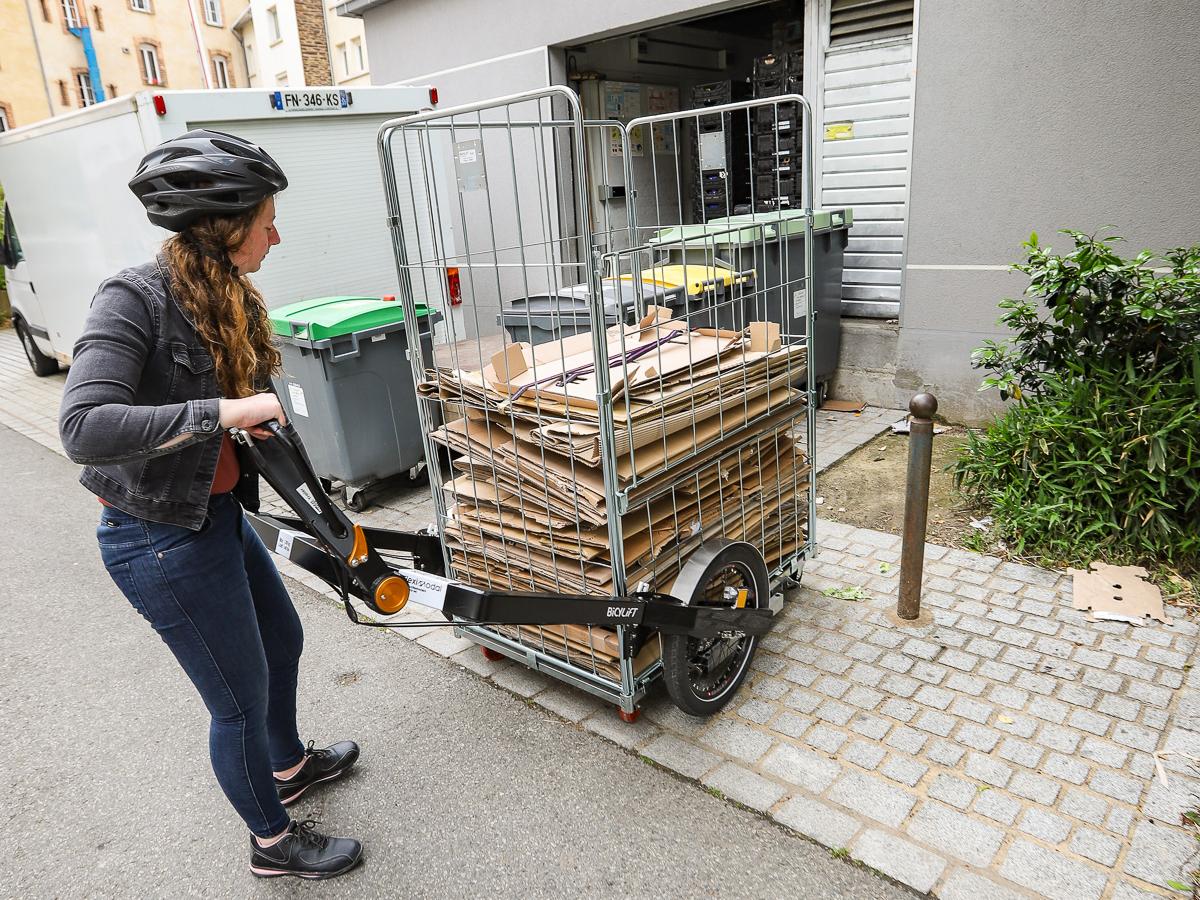
M 1200 4 L 920 0 L 917 38 L 894 383 L 976 419 L 994 407 L 970 350 L 1024 290 L 1003 266 L 1030 232 L 1066 248 L 1057 229 L 1111 224 L 1130 254 L 1200 241 Z

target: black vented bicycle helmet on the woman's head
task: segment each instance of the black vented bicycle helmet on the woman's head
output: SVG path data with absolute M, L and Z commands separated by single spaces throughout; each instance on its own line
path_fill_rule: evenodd
M 208 128 L 156 146 L 130 181 L 150 221 L 170 232 L 205 216 L 245 212 L 287 186 L 283 169 L 263 148 Z

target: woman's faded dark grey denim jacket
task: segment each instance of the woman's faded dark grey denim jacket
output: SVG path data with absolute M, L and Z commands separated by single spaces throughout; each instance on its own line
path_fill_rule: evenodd
M 199 530 L 221 455 L 212 355 L 175 302 L 158 258 L 104 281 L 74 347 L 59 409 L 80 484 L 130 515 Z M 168 449 L 162 445 L 187 436 Z M 239 450 L 234 496 L 258 509 L 258 474 Z

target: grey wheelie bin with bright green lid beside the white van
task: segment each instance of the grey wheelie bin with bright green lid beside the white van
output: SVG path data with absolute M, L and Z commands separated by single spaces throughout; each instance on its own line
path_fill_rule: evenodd
M 433 360 L 440 313 L 416 307 L 421 356 Z M 404 308 L 394 298 L 322 296 L 271 310 L 283 371 L 275 378 L 313 469 L 343 484 L 350 509 L 376 482 L 425 464 Z

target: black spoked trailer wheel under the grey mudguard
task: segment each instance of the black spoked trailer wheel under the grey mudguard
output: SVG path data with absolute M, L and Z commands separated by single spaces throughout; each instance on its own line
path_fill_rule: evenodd
M 749 544 L 708 541 L 684 564 L 671 593 L 689 606 L 766 607 L 767 564 Z M 745 679 L 757 644 L 757 637 L 742 631 L 704 638 L 662 635 L 662 679 L 671 700 L 691 715 L 718 712 Z

